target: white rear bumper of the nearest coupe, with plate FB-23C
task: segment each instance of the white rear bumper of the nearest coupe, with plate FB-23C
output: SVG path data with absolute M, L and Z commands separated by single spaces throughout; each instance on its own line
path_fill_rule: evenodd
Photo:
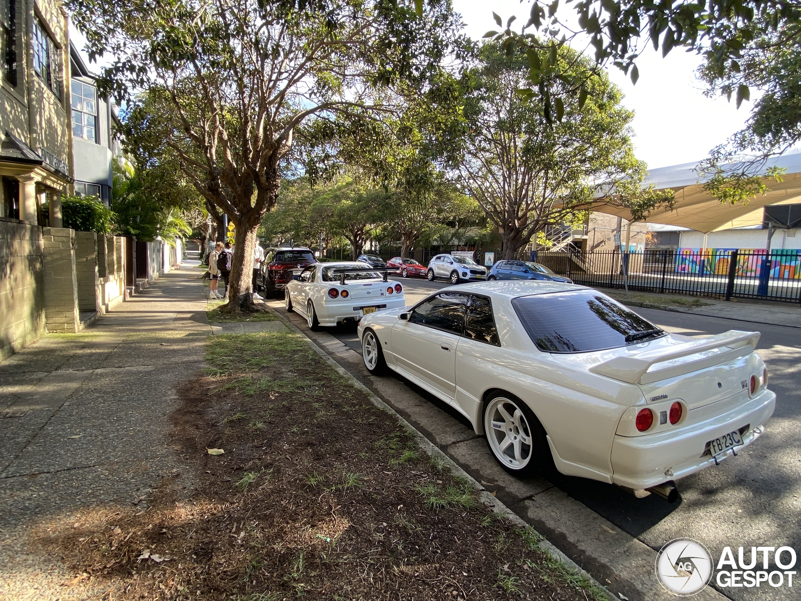
M 775 393 L 764 390 L 742 405 L 677 430 L 638 437 L 615 435 L 612 482 L 628 488 L 649 488 L 714 466 L 714 458 L 702 456 L 706 442 L 748 426 L 743 433 L 743 446 L 750 445 L 762 434 L 761 426 L 773 414 L 775 404 Z M 731 454 L 718 455 L 718 462 Z

